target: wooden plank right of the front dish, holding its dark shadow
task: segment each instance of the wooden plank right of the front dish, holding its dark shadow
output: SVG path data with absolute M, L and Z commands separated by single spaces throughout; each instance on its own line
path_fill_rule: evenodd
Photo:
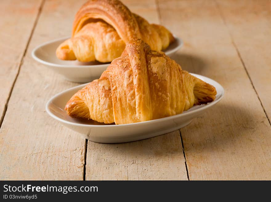
M 159 9 L 162 24 L 184 40 L 174 59 L 225 89 L 181 129 L 190 180 L 270 180 L 271 127 L 216 2 L 159 0 Z

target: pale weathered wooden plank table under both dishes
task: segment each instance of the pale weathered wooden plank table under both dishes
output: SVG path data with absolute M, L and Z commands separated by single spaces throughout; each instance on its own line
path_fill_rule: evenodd
M 182 38 L 183 69 L 225 96 L 183 129 L 142 141 L 86 141 L 45 104 L 77 83 L 31 58 L 69 36 L 85 0 L 2 0 L 1 180 L 271 180 L 271 1 L 125 0 Z

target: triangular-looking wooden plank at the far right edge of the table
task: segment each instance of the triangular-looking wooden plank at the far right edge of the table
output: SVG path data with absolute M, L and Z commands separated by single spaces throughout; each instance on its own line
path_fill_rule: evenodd
M 217 4 L 270 123 L 271 1 L 219 0 Z

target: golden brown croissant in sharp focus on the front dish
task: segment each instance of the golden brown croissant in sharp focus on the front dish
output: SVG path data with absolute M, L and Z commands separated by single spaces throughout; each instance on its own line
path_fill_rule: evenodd
M 212 85 L 133 39 L 99 79 L 71 97 L 65 110 L 71 117 L 127 124 L 179 114 L 215 97 Z

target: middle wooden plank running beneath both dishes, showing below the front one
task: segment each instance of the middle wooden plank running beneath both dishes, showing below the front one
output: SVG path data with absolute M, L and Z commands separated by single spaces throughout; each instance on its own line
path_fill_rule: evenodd
M 123 1 L 132 12 L 159 23 L 155 1 Z M 123 144 L 88 141 L 86 180 L 187 180 L 179 131 Z

